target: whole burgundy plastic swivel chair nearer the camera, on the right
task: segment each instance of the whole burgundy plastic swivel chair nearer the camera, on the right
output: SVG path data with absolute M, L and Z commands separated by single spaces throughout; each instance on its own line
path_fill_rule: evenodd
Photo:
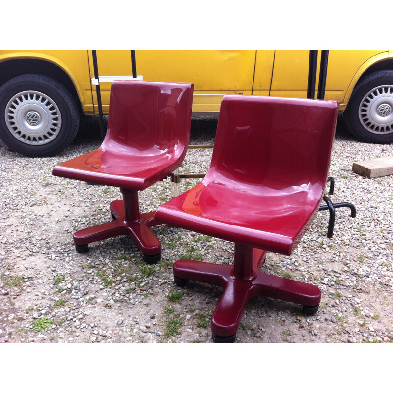
M 158 208 L 156 220 L 235 243 L 233 266 L 181 259 L 175 283 L 224 288 L 211 318 L 214 342 L 233 342 L 249 299 L 303 305 L 321 298 L 309 283 L 260 271 L 266 251 L 290 255 L 318 211 L 335 135 L 338 103 L 224 96 L 211 165 L 203 181 Z

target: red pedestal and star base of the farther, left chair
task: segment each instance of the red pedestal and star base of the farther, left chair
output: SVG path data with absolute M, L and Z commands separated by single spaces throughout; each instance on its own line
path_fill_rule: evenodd
M 150 259 L 154 259 L 151 261 L 152 263 L 158 262 L 161 243 L 150 228 L 161 223 L 154 220 L 155 212 L 139 212 L 138 191 L 122 188 L 120 191 L 123 194 L 123 200 L 114 200 L 110 203 L 112 216 L 115 220 L 74 233 L 74 244 L 77 246 L 77 251 L 82 249 L 80 246 L 92 242 L 128 235 L 143 253 L 145 261 L 149 262 Z M 87 251 L 88 248 L 84 252 Z M 155 261 L 157 258 L 158 260 Z

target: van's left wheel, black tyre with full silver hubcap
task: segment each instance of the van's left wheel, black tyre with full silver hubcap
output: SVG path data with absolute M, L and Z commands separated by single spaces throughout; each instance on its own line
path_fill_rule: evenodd
M 0 88 L 0 138 L 12 150 L 48 157 L 66 148 L 78 132 L 71 93 L 52 78 L 26 74 Z

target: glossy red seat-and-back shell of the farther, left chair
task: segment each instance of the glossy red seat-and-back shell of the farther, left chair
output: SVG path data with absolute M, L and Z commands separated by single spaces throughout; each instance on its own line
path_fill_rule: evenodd
M 144 190 L 178 168 L 190 139 L 193 84 L 114 81 L 108 131 L 90 153 L 52 174 Z

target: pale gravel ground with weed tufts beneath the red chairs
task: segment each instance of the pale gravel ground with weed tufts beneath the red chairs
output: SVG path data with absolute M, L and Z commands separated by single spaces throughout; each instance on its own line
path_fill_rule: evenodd
M 193 120 L 191 143 L 214 142 L 216 120 Z M 210 320 L 222 289 L 173 283 L 172 265 L 182 256 L 230 264 L 233 244 L 159 225 L 161 263 L 146 265 L 133 242 L 120 236 L 93 243 L 78 254 L 75 230 L 110 220 L 109 203 L 118 189 L 54 177 L 52 168 L 98 147 L 97 118 L 83 121 L 73 144 L 61 155 L 27 158 L 0 142 L 0 342 L 212 342 Z M 316 284 L 319 311 L 253 298 L 241 321 L 238 343 L 389 343 L 393 341 L 393 176 L 365 179 L 354 161 L 393 155 L 392 145 L 351 137 L 337 125 L 330 176 L 336 210 L 332 239 L 329 214 L 319 212 L 290 256 L 268 253 L 263 271 Z M 190 150 L 180 172 L 205 172 L 211 150 Z M 200 180 L 182 180 L 180 191 Z M 174 192 L 169 179 L 140 192 L 140 211 L 155 210 Z

